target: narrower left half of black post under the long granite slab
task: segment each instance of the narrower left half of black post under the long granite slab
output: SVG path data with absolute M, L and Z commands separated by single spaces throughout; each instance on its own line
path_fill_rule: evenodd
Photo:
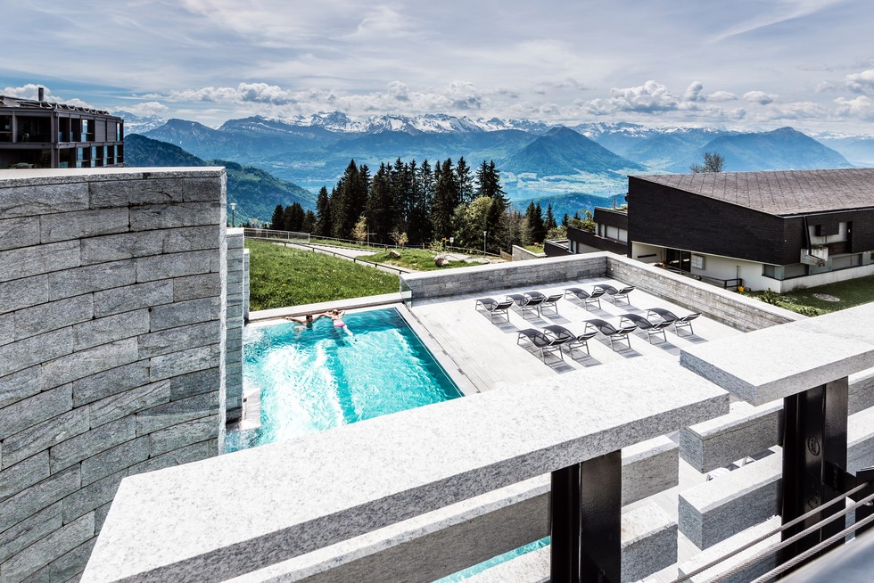
M 581 464 L 552 472 L 549 508 L 552 519 L 549 580 L 552 583 L 580 583 L 580 473 Z

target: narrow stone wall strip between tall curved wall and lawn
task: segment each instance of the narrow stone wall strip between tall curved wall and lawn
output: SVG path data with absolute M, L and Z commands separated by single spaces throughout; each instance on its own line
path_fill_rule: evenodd
M 243 242 L 242 228 L 227 230 L 227 423 L 236 423 L 243 418 L 243 316 L 249 289 Z

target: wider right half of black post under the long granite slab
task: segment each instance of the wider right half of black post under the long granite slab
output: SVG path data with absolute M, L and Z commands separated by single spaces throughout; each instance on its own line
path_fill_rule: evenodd
M 622 576 L 622 451 L 590 459 L 581 466 L 581 580 L 619 583 Z

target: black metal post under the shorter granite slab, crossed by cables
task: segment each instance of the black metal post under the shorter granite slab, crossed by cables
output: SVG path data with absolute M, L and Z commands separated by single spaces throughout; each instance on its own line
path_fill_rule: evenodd
M 848 382 L 846 378 L 797 393 L 783 399 L 783 481 L 782 520 L 796 519 L 829 500 L 843 496 L 826 480 L 831 466 L 846 471 L 846 416 Z M 822 518 L 843 511 L 834 505 L 791 529 L 783 540 L 812 526 Z M 844 529 L 836 520 L 796 541 L 780 552 L 780 562 L 804 553 L 822 540 Z M 804 563 L 802 563 L 804 564 Z M 787 571 L 788 572 L 788 571 Z

